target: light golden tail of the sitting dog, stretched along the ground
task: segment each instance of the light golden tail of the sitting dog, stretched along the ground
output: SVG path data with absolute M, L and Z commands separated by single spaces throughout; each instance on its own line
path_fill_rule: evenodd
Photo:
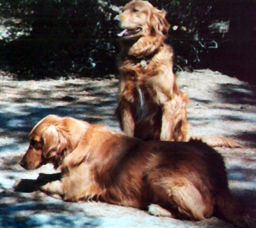
M 192 136 L 191 139 L 198 139 L 205 142 L 210 147 L 228 147 L 228 148 L 241 148 L 242 145 L 233 139 L 226 137 L 200 137 L 200 136 Z

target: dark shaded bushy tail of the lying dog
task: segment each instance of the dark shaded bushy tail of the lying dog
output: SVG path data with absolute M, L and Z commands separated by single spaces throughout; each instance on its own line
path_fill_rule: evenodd
M 241 228 L 256 228 L 256 211 L 246 211 L 227 192 L 216 196 L 216 217 Z

